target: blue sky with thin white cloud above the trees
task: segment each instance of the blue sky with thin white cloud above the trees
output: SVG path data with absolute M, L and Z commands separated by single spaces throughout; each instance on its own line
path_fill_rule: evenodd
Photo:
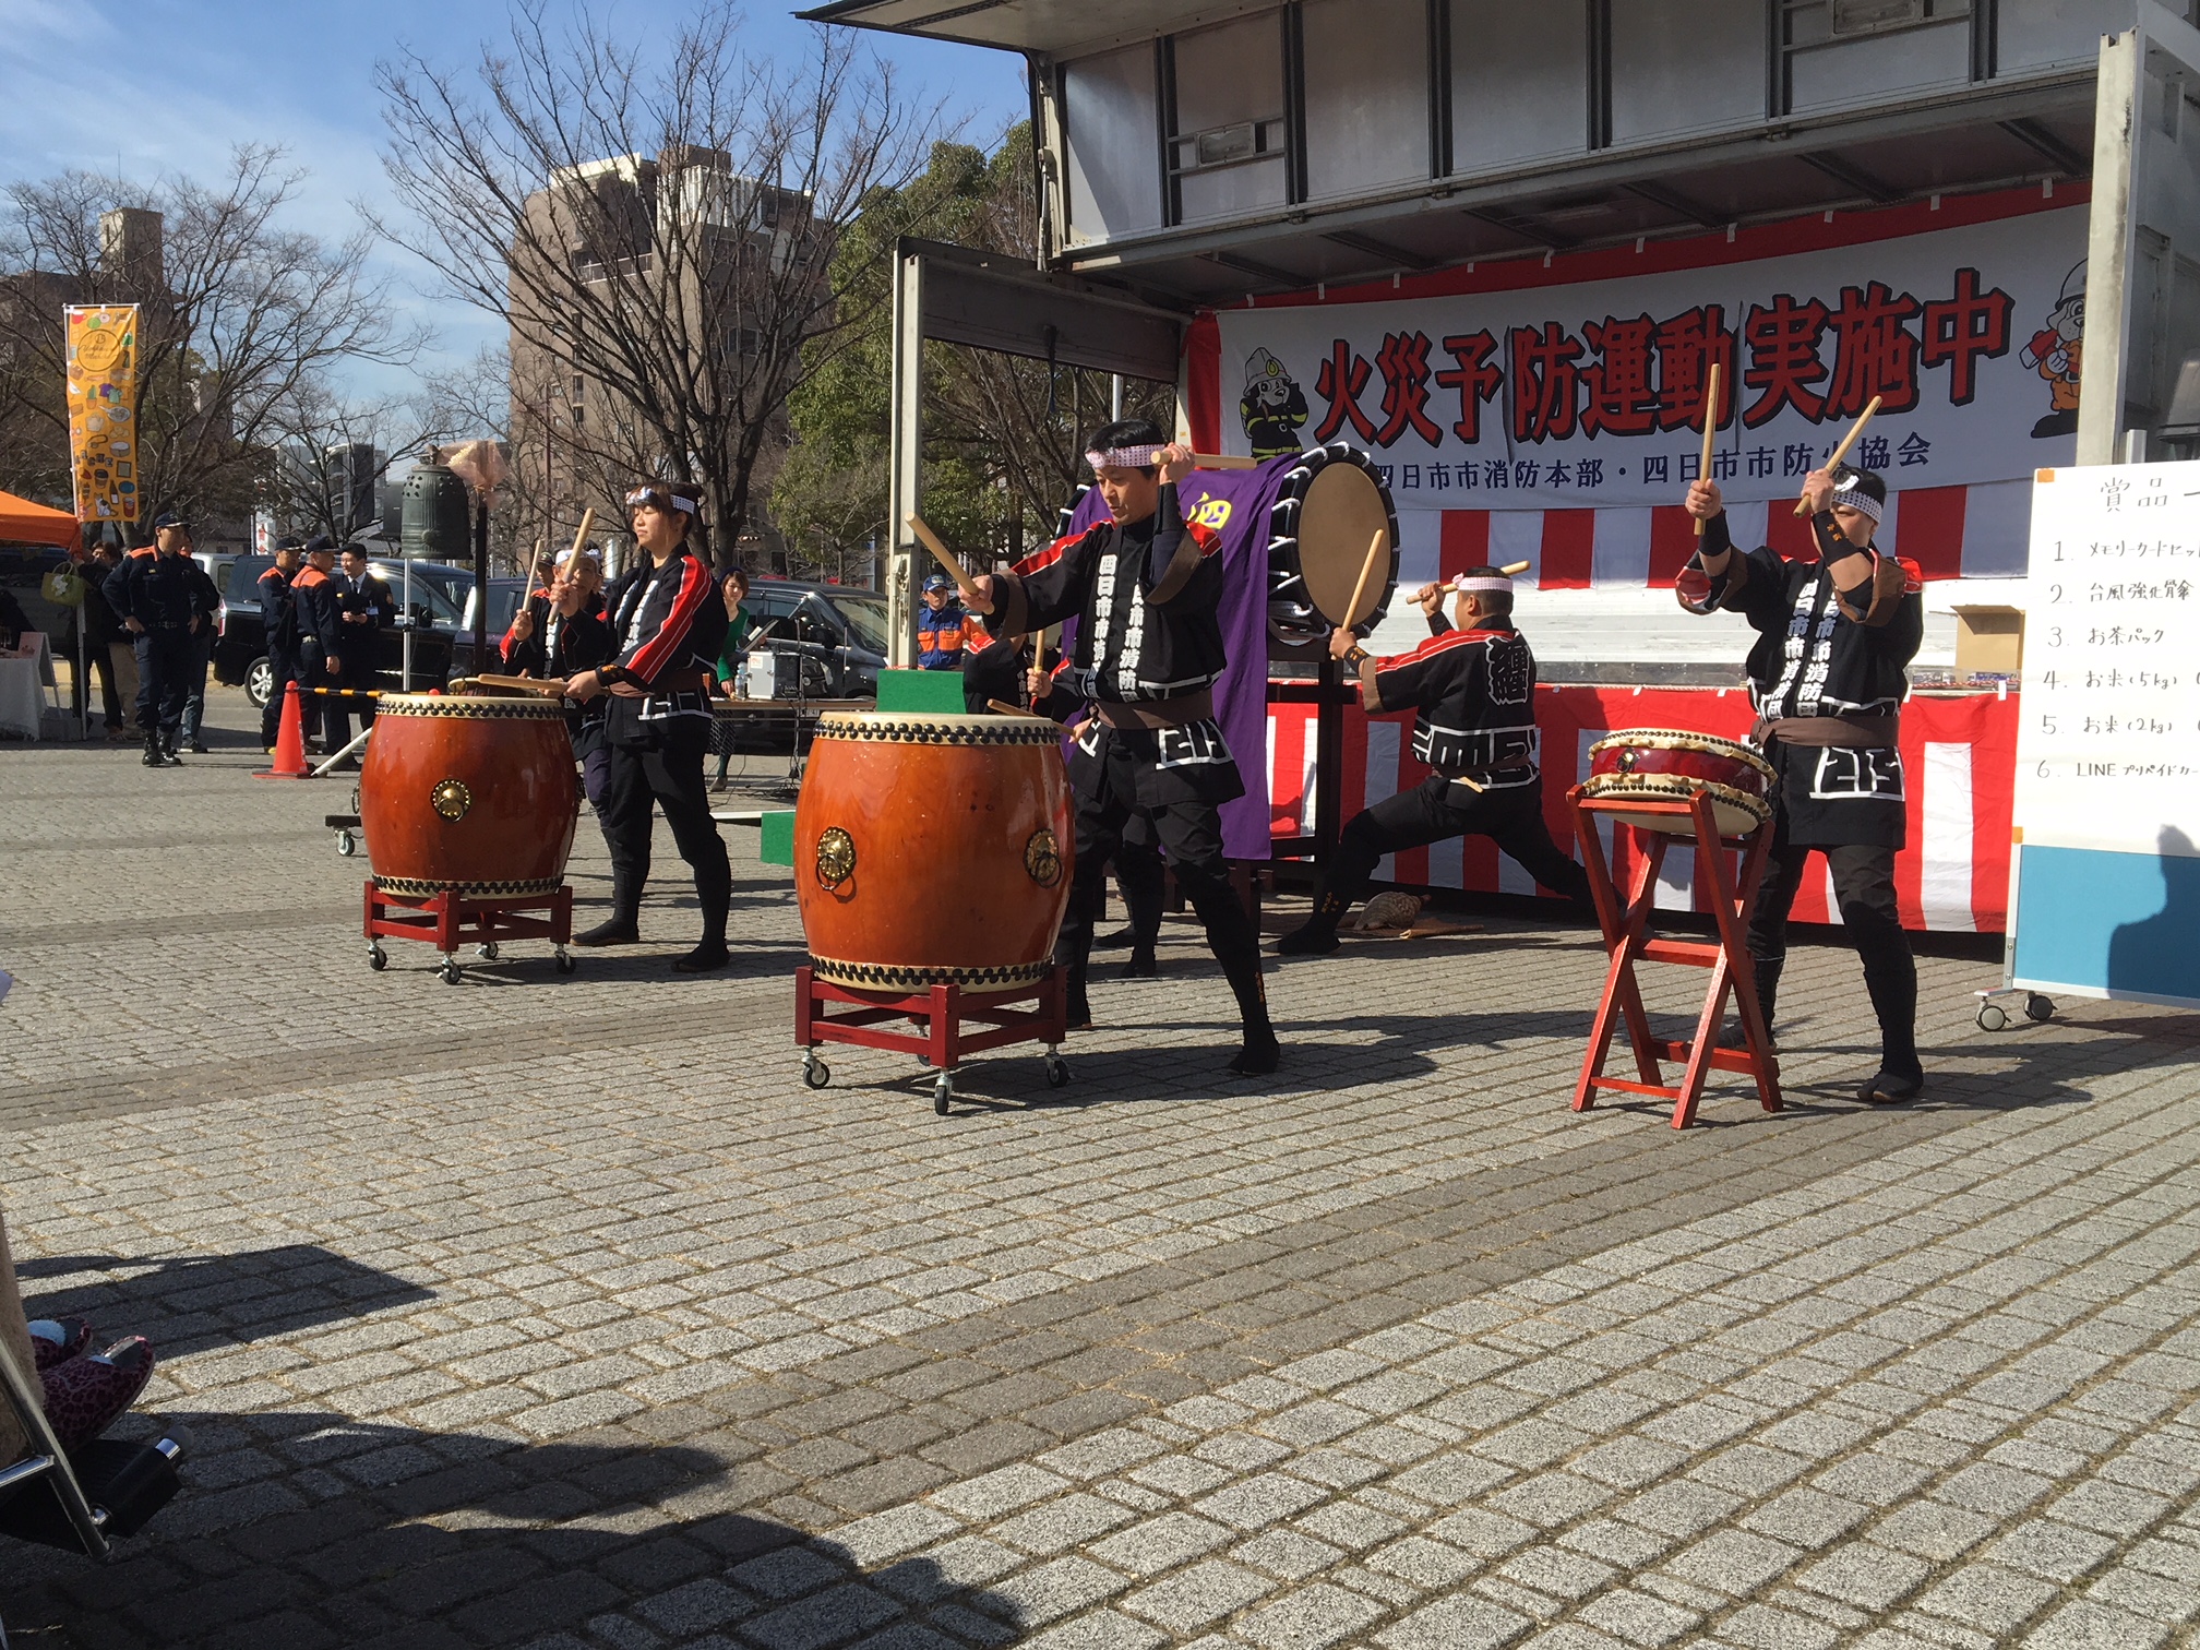
M 565 0 L 554 0 L 563 9 Z M 671 0 L 596 0 L 634 35 L 671 29 Z M 799 55 L 814 24 L 794 7 L 750 4 L 755 53 Z M 132 178 L 220 176 L 235 143 L 279 143 L 310 178 L 290 224 L 341 238 L 352 202 L 387 200 L 374 64 L 398 46 L 471 64 L 504 33 L 506 9 L 480 0 L 0 0 L 0 183 L 73 167 Z M 946 101 L 970 141 L 990 143 L 1023 119 L 1023 59 L 972 46 L 865 40 L 920 101 Z M 438 361 L 471 356 L 502 334 L 475 310 L 433 290 L 433 277 L 396 255 L 405 299 L 440 332 Z M 363 389 L 403 392 L 376 374 Z

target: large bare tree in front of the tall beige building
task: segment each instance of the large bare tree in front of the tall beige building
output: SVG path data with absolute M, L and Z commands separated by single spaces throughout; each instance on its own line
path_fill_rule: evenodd
M 508 46 L 466 73 L 381 66 L 411 211 L 385 233 L 510 326 L 515 469 L 568 462 L 572 515 L 636 473 L 695 482 L 733 546 L 805 348 L 865 319 L 843 229 L 913 174 L 935 117 L 838 31 L 801 62 L 746 55 L 726 0 L 669 35 L 587 7 L 552 29 L 524 0 Z

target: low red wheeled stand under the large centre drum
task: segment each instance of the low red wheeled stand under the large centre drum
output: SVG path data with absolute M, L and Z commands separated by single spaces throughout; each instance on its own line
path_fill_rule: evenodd
M 829 1003 L 851 1003 L 856 1012 L 832 1014 Z M 1060 964 L 1036 986 L 986 992 L 955 983 L 935 983 L 922 992 L 856 990 L 818 979 L 816 968 L 803 966 L 794 970 L 794 1041 L 803 1049 L 803 1082 L 812 1089 L 832 1082 L 832 1067 L 818 1058 L 821 1043 L 915 1054 L 939 1074 L 933 1078 L 933 1111 L 944 1118 L 964 1054 L 1045 1043 L 1047 1087 L 1060 1089 L 1069 1082 L 1069 1063 L 1060 1056 L 1063 1038 L 1069 1036 L 1067 1003 L 1069 970 Z M 889 1032 L 882 1030 L 887 1021 L 915 1023 L 922 1032 Z M 966 1025 L 986 1030 L 968 1032 Z

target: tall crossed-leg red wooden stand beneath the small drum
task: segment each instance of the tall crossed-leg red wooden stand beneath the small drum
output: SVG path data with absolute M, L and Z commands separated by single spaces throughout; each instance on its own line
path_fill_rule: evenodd
M 1575 785 L 1566 792 L 1566 805 L 1573 810 L 1573 834 L 1582 845 L 1588 889 L 1597 902 L 1604 948 L 1613 959 L 1604 975 L 1604 997 L 1597 1001 L 1597 1019 L 1588 1027 L 1588 1054 L 1582 1058 L 1582 1080 L 1573 1085 L 1573 1109 L 1588 1111 L 1597 1102 L 1597 1089 L 1617 1089 L 1619 1093 L 1672 1100 L 1672 1126 L 1687 1129 L 1696 1118 L 1696 1102 L 1703 1098 L 1703 1080 L 1716 1067 L 1720 1071 L 1749 1071 L 1758 1082 L 1758 1104 L 1767 1111 L 1780 1111 L 1780 1063 L 1773 1058 L 1771 1034 L 1764 1027 L 1764 1014 L 1758 1010 L 1756 970 L 1742 944 L 1742 935 L 1749 928 L 1749 911 L 1758 900 L 1758 882 L 1764 878 L 1771 832 L 1760 827 L 1740 840 L 1723 838 L 1718 834 L 1718 799 L 1707 790 L 1698 790 L 1683 801 L 1679 796 L 1591 796 L 1584 794 L 1582 785 Z M 1597 832 L 1599 818 L 1610 818 L 1635 829 L 1635 869 L 1628 876 L 1624 902 L 1604 856 L 1604 836 Z M 1665 849 L 1674 843 L 1685 847 L 1687 836 L 1696 838 L 1696 865 L 1701 876 L 1709 880 L 1712 917 L 1718 922 L 1716 944 L 1703 939 L 1654 939 L 1648 933 L 1650 909 L 1657 900 L 1657 873 L 1665 862 Z M 1742 856 L 1740 878 L 1731 878 L 1727 871 L 1727 854 L 1736 849 Z M 1641 988 L 1635 983 L 1637 961 L 1712 970 L 1694 1041 L 1674 1043 L 1650 1036 L 1650 1016 L 1643 1012 Z M 1727 1012 L 1729 992 L 1742 1019 L 1742 1041 L 1747 1047 L 1740 1049 L 1718 1047 L 1718 1027 Z M 1621 1021 L 1628 1027 L 1628 1043 L 1635 1049 L 1637 1078 L 1604 1076 L 1604 1063 L 1613 1049 L 1613 1032 L 1619 1030 Z M 1683 1063 L 1679 1087 L 1670 1087 L 1663 1080 L 1659 1060 Z

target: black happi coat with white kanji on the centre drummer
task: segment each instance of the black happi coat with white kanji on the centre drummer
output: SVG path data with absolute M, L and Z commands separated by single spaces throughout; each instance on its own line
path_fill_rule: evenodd
M 1078 728 L 1069 761 L 1080 794 L 1096 796 L 1104 783 L 1109 741 L 1137 766 L 1131 801 L 1140 807 L 1245 794 L 1210 704 L 1228 664 L 1221 594 L 1221 537 L 1184 519 L 1175 484 L 1162 486 L 1144 521 L 1102 521 L 1056 539 L 997 579 L 994 634 L 1078 620 L 1056 686 L 1098 711 Z

